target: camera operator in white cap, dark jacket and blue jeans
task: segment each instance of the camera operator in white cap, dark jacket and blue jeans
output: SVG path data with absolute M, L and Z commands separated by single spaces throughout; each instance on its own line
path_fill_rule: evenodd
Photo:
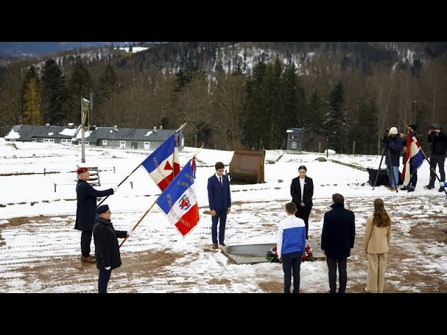
M 403 147 L 402 138 L 398 136 L 397 128 L 391 127 L 388 137 L 383 135 L 383 146 L 388 150 L 389 155 L 386 155 L 385 163 L 388 171 L 388 180 L 390 181 L 390 190 L 396 191 L 399 184 L 399 161 L 400 151 Z M 390 158 L 390 162 L 388 161 Z M 393 178 L 394 175 L 394 178 Z

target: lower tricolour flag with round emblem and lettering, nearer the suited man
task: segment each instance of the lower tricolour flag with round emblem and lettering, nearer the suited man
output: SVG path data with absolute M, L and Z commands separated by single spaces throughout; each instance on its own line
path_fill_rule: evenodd
M 192 158 L 156 200 L 156 204 L 168 216 L 168 221 L 183 236 L 196 227 L 199 221 L 195 178 L 196 161 Z

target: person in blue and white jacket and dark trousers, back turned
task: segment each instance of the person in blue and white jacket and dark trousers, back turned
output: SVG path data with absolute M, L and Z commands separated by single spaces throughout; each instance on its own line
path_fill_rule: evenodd
M 286 204 L 287 218 L 279 223 L 277 234 L 277 253 L 284 271 L 284 293 L 291 292 L 293 274 L 293 293 L 300 293 L 300 268 L 302 253 L 306 248 L 306 226 L 302 218 L 297 218 L 296 205 Z

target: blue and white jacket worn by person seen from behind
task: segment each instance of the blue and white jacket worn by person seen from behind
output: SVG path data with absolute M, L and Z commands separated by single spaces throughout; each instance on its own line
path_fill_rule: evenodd
M 288 215 L 279 223 L 277 252 L 278 258 L 284 253 L 304 252 L 306 248 L 306 226 L 302 218 Z

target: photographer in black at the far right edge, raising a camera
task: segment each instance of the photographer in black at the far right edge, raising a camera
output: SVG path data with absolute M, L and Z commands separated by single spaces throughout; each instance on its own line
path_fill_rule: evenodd
M 427 141 L 432 143 L 432 154 L 430 154 L 430 181 L 424 188 L 434 188 L 436 179 L 436 165 L 439 167 L 441 181 L 446 180 L 446 172 L 444 171 L 444 161 L 446 161 L 447 133 L 442 131 L 440 124 L 434 124 L 428 131 Z M 439 187 L 439 192 L 444 192 L 444 187 Z

